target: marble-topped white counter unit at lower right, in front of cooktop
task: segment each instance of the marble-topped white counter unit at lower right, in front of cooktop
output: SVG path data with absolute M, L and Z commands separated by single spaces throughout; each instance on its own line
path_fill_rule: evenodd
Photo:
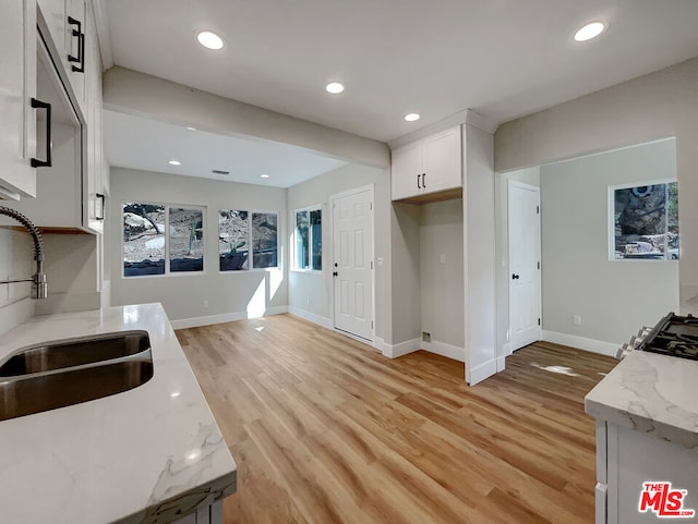
M 631 351 L 587 394 L 585 410 L 597 419 L 597 524 L 662 522 L 660 511 L 698 521 L 698 361 Z M 643 483 L 685 493 L 665 504 L 652 486 L 645 498 L 657 503 L 641 512 Z

